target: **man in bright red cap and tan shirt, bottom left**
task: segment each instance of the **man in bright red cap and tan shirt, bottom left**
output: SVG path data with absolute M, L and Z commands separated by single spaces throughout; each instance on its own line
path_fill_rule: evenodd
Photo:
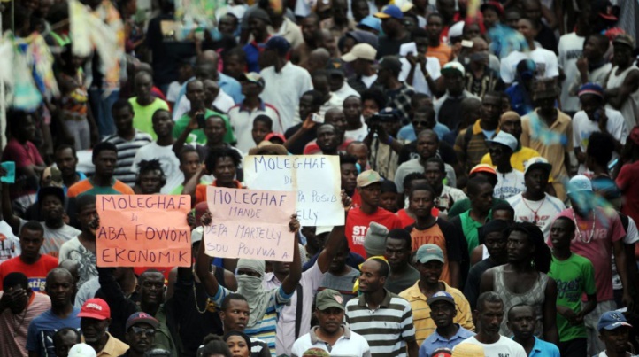
M 128 345 L 106 331 L 111 323 L 111 308 L 106 301 L 87 300 L 78 317 L 81 318 L 80 328 L 84 342 L 93 347 L 98 356 L 120 356 L 127 352 Z

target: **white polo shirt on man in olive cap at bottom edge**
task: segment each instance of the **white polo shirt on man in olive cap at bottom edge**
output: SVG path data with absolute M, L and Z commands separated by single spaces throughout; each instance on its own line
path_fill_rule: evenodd
M 297 338 L 291 351 L 291 357 L 302 357 L 304 352 L 310 348 L 320 348 L 335 357 L 370 357 L 371 348 L 368 346 L 366 338 L 352 332 L 348 325 L 342 325 L 344 333 L 335 341 L 334 345 L 328 345 L 317 336 L 319 326 L 313 327 L 309 333 L 301 338 Z

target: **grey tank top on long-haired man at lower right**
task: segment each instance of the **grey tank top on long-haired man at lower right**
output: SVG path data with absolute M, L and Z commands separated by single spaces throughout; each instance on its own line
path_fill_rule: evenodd
M 504 314 L 508 314 L 511 307 L 520 304 L 526 304 L 535 309 L 536 320 L 535 323 L 535 336 L 538 338 L 543 337 L 543 301 L 545 299 L 544 293 L 546 291 L 546 284 L 548 283 L 548 276 L 543 273 L 538 273 L 539 277 L 533 285 L 533 287 L 524 293 L 518 294 L 510 291 L 504 282 L 504 266 L 495 267 L 494 286 L 495 292 L 504 300 Z M 512 336 L 512 331 L 506 326 L 506 316 L 502 321 L 502 328 L 499 333 L 506 337 Z

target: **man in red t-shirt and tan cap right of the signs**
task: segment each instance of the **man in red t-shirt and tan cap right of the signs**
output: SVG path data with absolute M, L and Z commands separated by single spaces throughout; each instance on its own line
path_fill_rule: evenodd
M 349 240 L 350 252 L 366 257 L 364 237 L 372 221 L 387 229 L 402 228 L 402 222 L 393 213 L 379 207 L 381 196 L 381 177 L 373 170 L 358 175 L 358 193 L 361 206 L 353 208 L 346 217 L 345 235 Z

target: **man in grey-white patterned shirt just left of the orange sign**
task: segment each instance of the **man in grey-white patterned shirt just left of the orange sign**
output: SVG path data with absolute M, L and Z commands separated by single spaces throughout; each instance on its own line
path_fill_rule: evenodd
M 60 247 L 59 262 L 73 260 L 78 263 L 80 281 L 77 288 L 90 278 L 97 276 L 96 270 L 96 196 L 83 195 L 77 200 L 78 221 L 81 233 Z

